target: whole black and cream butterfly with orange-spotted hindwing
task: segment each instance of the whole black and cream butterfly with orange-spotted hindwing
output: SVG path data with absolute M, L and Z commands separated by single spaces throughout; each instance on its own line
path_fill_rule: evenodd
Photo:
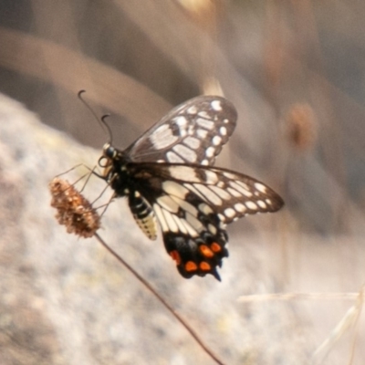
M 201 96 L 168 113 L 120 151 L 103 147 L 99 165 L 115 197 L 125 196 L 141 230 L 165 248 L 186 278 L 220 276 L 228 256 L 225 224 L 246 214 L 276 212 L 284 202 L 266 184 L 213 167 L 235 130 L 237 112 L 226 99 Z

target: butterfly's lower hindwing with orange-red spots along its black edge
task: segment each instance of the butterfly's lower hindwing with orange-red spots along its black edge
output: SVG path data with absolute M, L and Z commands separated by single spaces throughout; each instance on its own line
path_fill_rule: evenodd
M 166 251 L 182 276 L 212 274 L 219 279 L 216 267 L 222 266 L 222 258 L 228 255 L 224 226 L 202 197 L 183 183 L 166 178 L 163 168 L 167 166 L 130 164 L 137 189 L 132 194 L 144 196 L 151 205 L 162 229 Z

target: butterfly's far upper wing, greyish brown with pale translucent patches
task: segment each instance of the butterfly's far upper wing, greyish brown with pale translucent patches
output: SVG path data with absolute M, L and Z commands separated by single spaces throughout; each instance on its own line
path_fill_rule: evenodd
M 235 130 L 236 119 L 228 100 L 194 98 L 173 109 L 125 152 L 133 162 L 212 165 Z

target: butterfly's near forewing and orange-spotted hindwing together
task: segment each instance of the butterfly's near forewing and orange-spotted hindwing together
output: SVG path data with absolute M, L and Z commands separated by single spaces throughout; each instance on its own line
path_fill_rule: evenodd
M 210 273 L 219 278 L 216 266 L 228 255 L 225 224 L 283 205 L 264 183 L 225 169 L 150 162 L 130 163 L 129 169 L 184 277 Z

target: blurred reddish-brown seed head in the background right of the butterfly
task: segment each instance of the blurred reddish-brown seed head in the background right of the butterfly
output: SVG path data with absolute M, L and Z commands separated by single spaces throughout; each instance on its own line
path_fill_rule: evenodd
M 297 150 L 308 150 L 316 141 L 317 126 L 312 108 L 308 104 L 295 104 L 288 111 L 287 138 Z

